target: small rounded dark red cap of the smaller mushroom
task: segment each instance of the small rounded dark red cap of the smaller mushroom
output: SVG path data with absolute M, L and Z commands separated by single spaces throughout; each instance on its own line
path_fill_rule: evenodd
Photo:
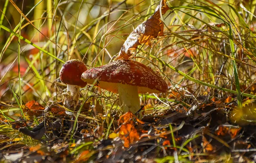
M 81 75 L 86 70 L 87 68 L 83 62 L 79 60 L 68 60 L 60 70 L 61 82 L 67 85 L 85 87 L 87 83 L 82 81 Z

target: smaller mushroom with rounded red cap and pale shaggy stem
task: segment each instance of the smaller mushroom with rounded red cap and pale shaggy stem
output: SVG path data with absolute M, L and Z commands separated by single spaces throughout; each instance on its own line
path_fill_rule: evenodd
M 81 75 L 87 70 L 85 64 L 79 60 L 68 60 L 61 67 L 60 79 L 67 84 L 67 92 L 64 93 L 64 106 L 74 110 L 79 100 L 79 88 L 85 87 L 86 82 L 81 80 Z

